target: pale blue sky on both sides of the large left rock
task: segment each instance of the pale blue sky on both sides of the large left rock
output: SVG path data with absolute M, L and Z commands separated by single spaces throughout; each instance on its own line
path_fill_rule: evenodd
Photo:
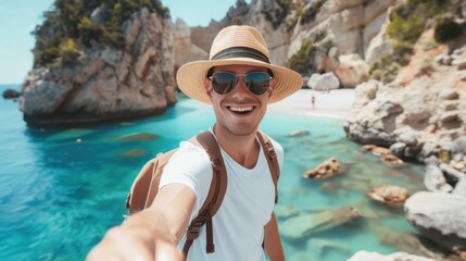
M 0 0 L 0 84 L 22 84 L 33 69 L 35 38 L 30 35 L 41 23 L 43 11 L 53 0 Z M 251 0 L 247 0 L 250 3 Z M 236 0 L 162 0 L 172 21 L 182 18 L 189 26 L 206 26 L 225 17 Z

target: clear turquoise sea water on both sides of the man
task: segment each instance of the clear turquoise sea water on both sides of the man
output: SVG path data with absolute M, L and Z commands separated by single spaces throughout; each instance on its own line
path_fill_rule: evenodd
M 18 88 L 0 90 L 8 87 Z M 160 116 L 80 128 L 27 127 L 22 116 L 17 102 L 0 100 L 0 260 L 83 260 L 109 227 L 122 222 L 127 190 L 143 163 L 214 121 L 209 107 L 189 99 Z M 363 249 L 390 253 L 403 250 L 393 238 L 415 235 L 401 210 L 375 204 L 365 194 L 382 184 L 420 190 L 424 167 L 381 164 L 347 140 L 342 126 L 342 120 L 285 114 L 267 114 L 261 125 L 286 152 L 277 213 L 344 206 L 363 213 L 300 240 L 282 237 L 287 260 L 347 260 Z M 298 129 L 311 134 L 288 137 Z M 344 165 L 339 176 L 301 177 L 330 157 Z M 288 217 L 279 216 L 281 227 Z

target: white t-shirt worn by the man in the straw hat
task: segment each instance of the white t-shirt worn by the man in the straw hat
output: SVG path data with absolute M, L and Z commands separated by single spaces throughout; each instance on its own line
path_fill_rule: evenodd
M 259 139 L 256 139 L 259 142 Z M 284 149 L 270 138 L 277 153 L 280 169 L 284 163 Z M 275 187 L 263 149 L 253 169 L 238 164 L 223 149 L 228 185 L 225 198 L 213 216 L 213 236 L 215 251 L 205 250 L 205 225 L 193 241 L 187 260 L 265 260 L 262 243 L 264 226 L 270 220 L 275 202 Z M 169 159 L 160 182 L 165 185 L 181 183 L 190 187 L 196 196 L 194 209 L 190 221 L 202 207 L 211 186 L 212 165 L 207 153 L 188 141 L 179 145 L 178 151 Z M 186 235 L 179 244 L 182 249 Z

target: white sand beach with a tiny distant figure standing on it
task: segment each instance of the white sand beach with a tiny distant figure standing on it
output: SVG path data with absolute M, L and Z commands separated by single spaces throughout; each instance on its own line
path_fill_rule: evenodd
M 314 107 L 312 96 L 315 97 Z M 345 117 L 354 103 L 354 89 L 337 89 L 329 92 L 301 89 L 285 100 L 269 104 L 269 112 Z

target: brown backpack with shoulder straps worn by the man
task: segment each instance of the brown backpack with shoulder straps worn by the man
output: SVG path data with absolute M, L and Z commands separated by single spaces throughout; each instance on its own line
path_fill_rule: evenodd
M 266 135 L 257 132 L 257 137 L 264 150 L 265 158 L 267 159 L 272 181 L 275 186 L 275 202 L 277 202 L 277 183 L 280 174 L 277 156 L 275 153 L 274 146 Z M 214 135 L 211 132 L 203 132 L 190 138 L 189 141 L 203 148 L 205 152 L 207 152 L 212 163 L 213 175 L 207 197 L 199 210 L 198 215 L 188 226 L 187 238 L 182 248 L 185 257 L 188 257 L 189 248 L 194 239 L 199 237 L 199 232 L 204 224 L 206 232 L 206 251 L 207 253 L 215 251 L 213 244 L 212 216 L 215 215 L 222 204 L 228 181 L 224 159 Z M 163 169 L 167 164 L 169 158 L 178 149 L 173 149 L 165 153 L 159 153 L 154 159 L 147 162 L 139 172 L 136 179 L 133 182 L 131 189 L 126 199 L 126 209 L 130 214 L 135 214 L 152 204 L 159 191 L 159 183 Z

